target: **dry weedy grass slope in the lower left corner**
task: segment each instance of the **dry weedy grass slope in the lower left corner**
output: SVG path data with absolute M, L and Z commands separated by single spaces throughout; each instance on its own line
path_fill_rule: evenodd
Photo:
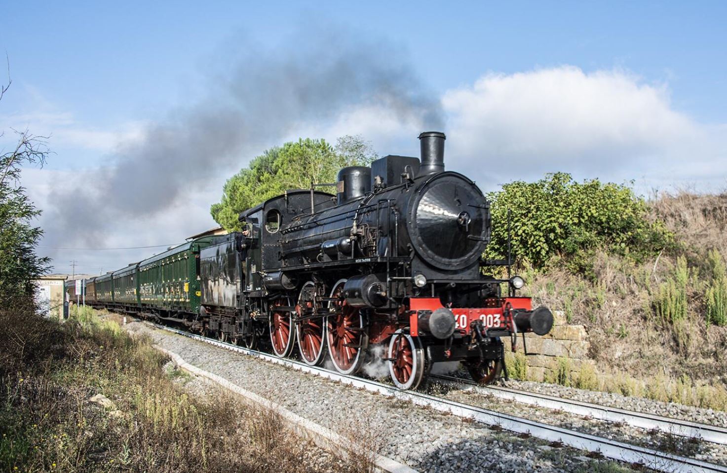
M 371 469 L 324 454 L 275 414 L 190 395 L 146 338 L 94 311 L 67 323 L 0 311 L 0 470 L 307 472 Z M 180 379 L 182 376 L 182 379 Z M 95 395 L 109 402 L 95 403 Z M 105 405 L 102 405 L 105 403 Z M 327 459 L 326 459 L 327 458 Z

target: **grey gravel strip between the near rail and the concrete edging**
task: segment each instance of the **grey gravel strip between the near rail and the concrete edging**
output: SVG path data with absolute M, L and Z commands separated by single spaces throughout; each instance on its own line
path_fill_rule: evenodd
M 382 455 L 421 472 L 629 471 L 624 465 L 587 458 L 579 450 L 551 448 L 537 439 L 514 437 L 457 416 L 343 386 L 142 323 L 130 323 L 126 328 L 148 333 L 156 344 L 188 363 L 357 442 L 377 445 Z

